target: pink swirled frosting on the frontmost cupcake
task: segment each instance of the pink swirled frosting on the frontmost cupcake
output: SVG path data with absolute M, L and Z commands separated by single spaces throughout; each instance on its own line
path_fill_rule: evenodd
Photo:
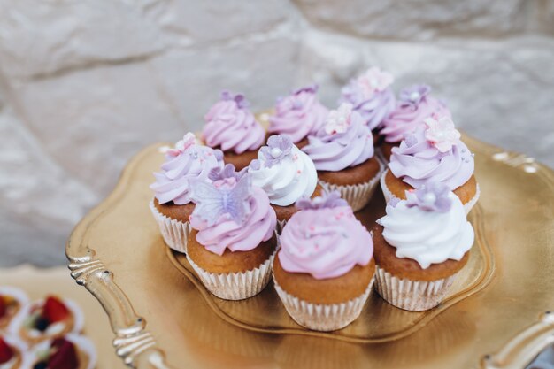
M 371 234 L 356 219 L 350 206 L 338 200 L 328 202 L 316 197 L 313 202 L 332 205 L 306 208 L 289 219 L 280 237 L 278 254 L 285 271 L 309 273 L 323 280 L 340 277 L 355 265 L 367 265 L 373 258 Z

